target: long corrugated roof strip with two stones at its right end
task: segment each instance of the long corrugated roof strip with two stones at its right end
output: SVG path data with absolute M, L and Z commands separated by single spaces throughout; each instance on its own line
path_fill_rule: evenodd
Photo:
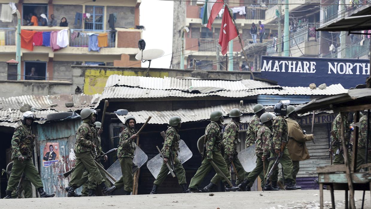
M 330 85 L 326 89 L 310 89 L 309 87 L 283 87 L 283 89 L 253 89 L 245 91 L 223 90 L 209 93 L 185 92 L 180 90 L 144 89 L 127 86 L 106 87 L 102 93 L 102 99 L 106 98 L 163 98 L 163 97 L 206 97 L 220 96 L 243 98 L 256 95 L 333 95 L 347 92 L 341 84 Z

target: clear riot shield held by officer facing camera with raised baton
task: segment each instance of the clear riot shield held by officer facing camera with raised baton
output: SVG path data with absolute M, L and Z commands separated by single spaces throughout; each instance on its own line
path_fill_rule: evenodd
M 144 163 L 148 160 L 147 154 L 135 144 L 134 158 L 133 158 L 133 172 L 135 173 Z M 112 164 L 107 172 L 110 173 L 116 180 L 119 180 L 122 176 L 121 165 L 119 159 L 117 159 L 114 164 Z M 107 175 L 106 175 L 107 176 Z M 107 176 L 107 178 L 112 182 L 113 180 Z

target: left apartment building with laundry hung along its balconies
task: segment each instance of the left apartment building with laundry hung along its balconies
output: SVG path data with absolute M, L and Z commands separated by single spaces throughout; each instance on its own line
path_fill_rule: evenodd
M 2 7 L 9 6 L 9 0 L 0 2 Z M 51 32 L 67 29 L 69 40 L 68 45 L 59 50 L 44 45 L 34 46 L 33 50 L 22 48 L 21 80 L 29 79 L 27 76 L 32 68 L 35 68 L 39 76 L 33 80 L 42 80 L 45 83 L 71 82 L 71 65 L 140 67 L 134 56 L 139 52 L 137 42 L 142 36 L 142 29 L 139 29 L 142 27 L 138 27 L 141 0 L 35 0 L 32 3 L 20 0 L 14 3 L 22 17 L 22 31 Z M 39 26 L 29 25 L 27 18 L 30 13 L 41 20 Z M 41 14 L 45 14 L 48 23 L 53 14 L 56 26 L 41 26 L 42 21 L 45 21 L 40 18 Z M 60 27 L 63 17 L 68 26 Z M 16 27 L 16 16 L 10 22 L 0 21 L 0 80 L 16 80 L 14 70 L 8 69 L 6 63 L 10 59 L 16 59 Z M 98 37 L 99 34 L 106 33 L 106 47 L 99 51 L 89 50 L 91 33 Z

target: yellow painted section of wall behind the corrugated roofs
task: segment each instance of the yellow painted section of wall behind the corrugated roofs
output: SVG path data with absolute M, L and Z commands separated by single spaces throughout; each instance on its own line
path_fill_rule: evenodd
M 102 94 L 110 75 L 145 76 L 145 72 L 132 71 L 104 71 L 98 69 L 87 69 L 85 71 L 84 94 Z M 149 72 L 151 77 L 164 78 L 169 76 L 168 72 Z

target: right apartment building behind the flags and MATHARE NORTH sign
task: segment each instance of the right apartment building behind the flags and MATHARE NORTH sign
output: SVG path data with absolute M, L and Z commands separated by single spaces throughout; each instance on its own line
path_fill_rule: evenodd
M 370 3 L 370 0 L 358 1 L 358 4 L 364 5 L 346 5 L 343 8 L 339 6 L 341 1 L 344 0 L 298 0 L 295 1 L 295 4 L 289 5 L 289 56 L 367 58 L 370 48 L 368 37 L 354 35 L 351 38 L 345 34 L 343 36 L 344 44 L 340 47 L 340 33 L 315 31 L 318 27 L 365 9 L 369 6 L 366 3 Z M 231 8 L 245 8 L 246 14 L 235 13 L 234 18 L 243 39 L 244 49 L 247 50 L 252 71 L 260 71 L 262 55 L 283 56 L 280 37 L 283 37 L 285 6 L 278 4 L 284 4 L 284 0 L 229 0 L 227 3 Z M 344 1 L 342 4 L 349 4 L 349 1 Z M 174 2 L 173 67 L 180 68 L 182 33 L 184 31 L 185 69 L 193 68 L 193 59 L 196 59 L 197 69 L 226 70 L 226 58 L 221 55 L 218 44 L 221 17 L 217 17 L 210 31 L 201 26 L 202 7 L 202 3 Z M 259 30 L 258 21 L 265 25 L 265 34 L 262 43 L 259 43 L 259 35 L 257 35 L 257 43 L 253 43 L 250 28 L 254 22 Z M 188 27 L 189 32 L 185 32 L 184 27 Z M 282 32 L 281 35 L 279 35 L 279 28 Z M 330 52 L 331 43 L 334 44 L 336 52 Z M 343 49 L 342 56 L 340 52 L 338 53 L 341 49 Z M 241 51 L 238 39 L 234 39 L 233 53 Z M 245 58 L 243 56 L 236 57 L 234 58 L 233 70 L 248 71 Z

